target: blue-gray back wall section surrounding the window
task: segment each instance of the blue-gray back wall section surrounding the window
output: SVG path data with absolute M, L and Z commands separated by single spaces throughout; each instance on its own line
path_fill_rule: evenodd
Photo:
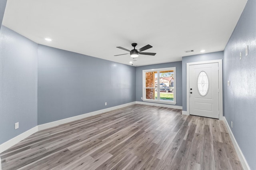
M 142 70 L 176 67 L 176 106 L 182 106 L 182 62 L 162 63 L 136 67 L 136 101 L 142 101 Z

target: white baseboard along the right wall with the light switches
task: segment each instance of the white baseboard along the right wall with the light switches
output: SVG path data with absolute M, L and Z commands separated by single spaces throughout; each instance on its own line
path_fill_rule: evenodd
M 228 129 L 228 134 L 229 134 L 229 136 L 230 136 L 230 138 L 232 140 L 232 143 L 233 143 L 233 145 L 234 145 L 234 147 L 236 149 L 236 153 L 238 154 L 238 157 L 240 159 L 240 162 L 241 162 L 244 170 L 250 170 L 250 167 L 247 164 L 246 159 L 244 158 L 244 154 L 242 153 L 242 150 L 240 149 L 238 143 L 236 142 L 236 138 L 235 138 L 234 134 L 232 133 L 232 130 L 230 129 L 230 127 L 228 125 L 228 122 L 227 122 L 225 117 L 223 117 L 223 121 L 225 122 L 225 125 L 226 125 L 226 127 Z

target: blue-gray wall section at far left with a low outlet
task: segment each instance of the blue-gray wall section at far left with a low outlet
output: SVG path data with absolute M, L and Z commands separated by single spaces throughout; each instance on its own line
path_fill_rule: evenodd
M 37 125 L 37 44 L 0 29 L 0 144 Z M 14 123 L 20 127 L 14 130 Z

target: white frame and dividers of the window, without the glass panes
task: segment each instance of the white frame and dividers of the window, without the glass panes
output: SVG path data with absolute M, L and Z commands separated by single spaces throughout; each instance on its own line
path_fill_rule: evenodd
M 159 77 L 160 77 L 160 71 L 169 71 L 173 70 L 174 74 L 174 93 L 173 93 L 173 101 L 161 101 L 160 100 L 160 86 L 159 86 Z M 146 88 L 146 72 L 153 72 L 157 71 L 157 96 L 158 99 L 146 99 L 146 89 L 156 89 L 155 87 L 147 87 Z M 142 70 L 142 82 L 143 82 L 143 87 L 142 87 L 142 101 L 146 102 L 153 102 L 153 103 L 162 103 L 162 104 L 169 104 L 169 105 L 176 105 L 176 67 L 168 67 L 168 68 L 160 68 L 160 69 L 147 69 L 147 70 Z

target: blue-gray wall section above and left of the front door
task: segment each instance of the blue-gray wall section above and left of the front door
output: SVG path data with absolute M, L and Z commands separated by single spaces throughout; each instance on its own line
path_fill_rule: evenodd
M 198 55 L 190 55 L 182 57 L 182 110 L 187 111 L 187 80 L 186 80 L 186 64 L 198 61 L 209 61 L 215 59 L 223 59 L 223 51 L 218 51 L 214 53 L 205 53 Z

